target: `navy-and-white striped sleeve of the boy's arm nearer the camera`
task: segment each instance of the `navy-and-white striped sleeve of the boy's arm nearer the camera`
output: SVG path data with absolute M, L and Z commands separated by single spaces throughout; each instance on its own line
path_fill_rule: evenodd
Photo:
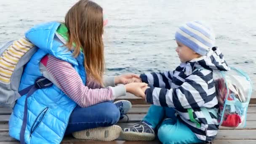
M 146 90 L 146 101 L 163 107 L 177 109 L 198 109 L 205 104 L 208 96 L 207 77 L 202 72 L 189 75 L 178 88 L 155 88 Z

